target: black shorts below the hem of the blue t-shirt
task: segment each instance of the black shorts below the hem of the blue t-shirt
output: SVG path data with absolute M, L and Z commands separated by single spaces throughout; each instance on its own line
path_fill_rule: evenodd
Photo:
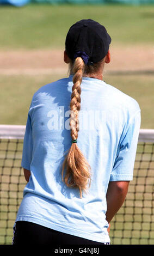
M 104 245 L 82 237 L 65 234 L 42 225 L 17 221 L 14 227 L 13 245 Z

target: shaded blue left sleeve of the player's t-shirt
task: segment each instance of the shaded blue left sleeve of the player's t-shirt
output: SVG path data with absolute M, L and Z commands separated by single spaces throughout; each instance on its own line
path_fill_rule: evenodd
M 32 161 L 32 151 L 33 151 L 32 124 L 31 124 L 30 114 L 28 113 L 26 131 L 24 133 L 24 139 L 23 139 L 23 150 L 22 150 L 22 161 L 21 161 L 21 166 L 24 169 L 30 170 L 30 163 Z

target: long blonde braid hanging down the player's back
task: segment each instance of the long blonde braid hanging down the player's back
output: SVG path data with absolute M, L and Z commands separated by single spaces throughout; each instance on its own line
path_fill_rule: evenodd
M 81 109 L 81 82 L 84 71 L 84 62 L 81 57 L 75 59 L 73 65 L 73 86 L 70 101 L 70 129 L 71 138 L 75 140 L 78 138 L 79 124 L 78 114 Z M 65 178 L 64 168 L 66 167 Z M 82 198 L 82 191 L 87 190 L 88 181 L 90 181 L 90 166 L 81 150 L 79 150 L 77 143 L 72 143 L 69 153 L 67 154 L 62 168 L 62 179 L 68 187 L 79 188 L 80 197 Z

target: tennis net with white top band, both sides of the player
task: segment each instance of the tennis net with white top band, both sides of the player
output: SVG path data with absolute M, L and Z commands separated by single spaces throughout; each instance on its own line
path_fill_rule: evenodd
M 26 181 L 21 168 L 25 126 L 0 125 L 0 244 L 9 245 Z M 154 130 L 141 129 L 134 178 L 112 220 L 114 245 L 154 244 Z

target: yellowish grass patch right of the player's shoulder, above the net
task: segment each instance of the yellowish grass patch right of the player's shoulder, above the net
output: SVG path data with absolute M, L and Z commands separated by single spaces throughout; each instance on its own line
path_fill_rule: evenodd
M 107 76 L 107 82 L 138 101 L 141 109 L 141 129 L 154 129 L 153 76 Z

